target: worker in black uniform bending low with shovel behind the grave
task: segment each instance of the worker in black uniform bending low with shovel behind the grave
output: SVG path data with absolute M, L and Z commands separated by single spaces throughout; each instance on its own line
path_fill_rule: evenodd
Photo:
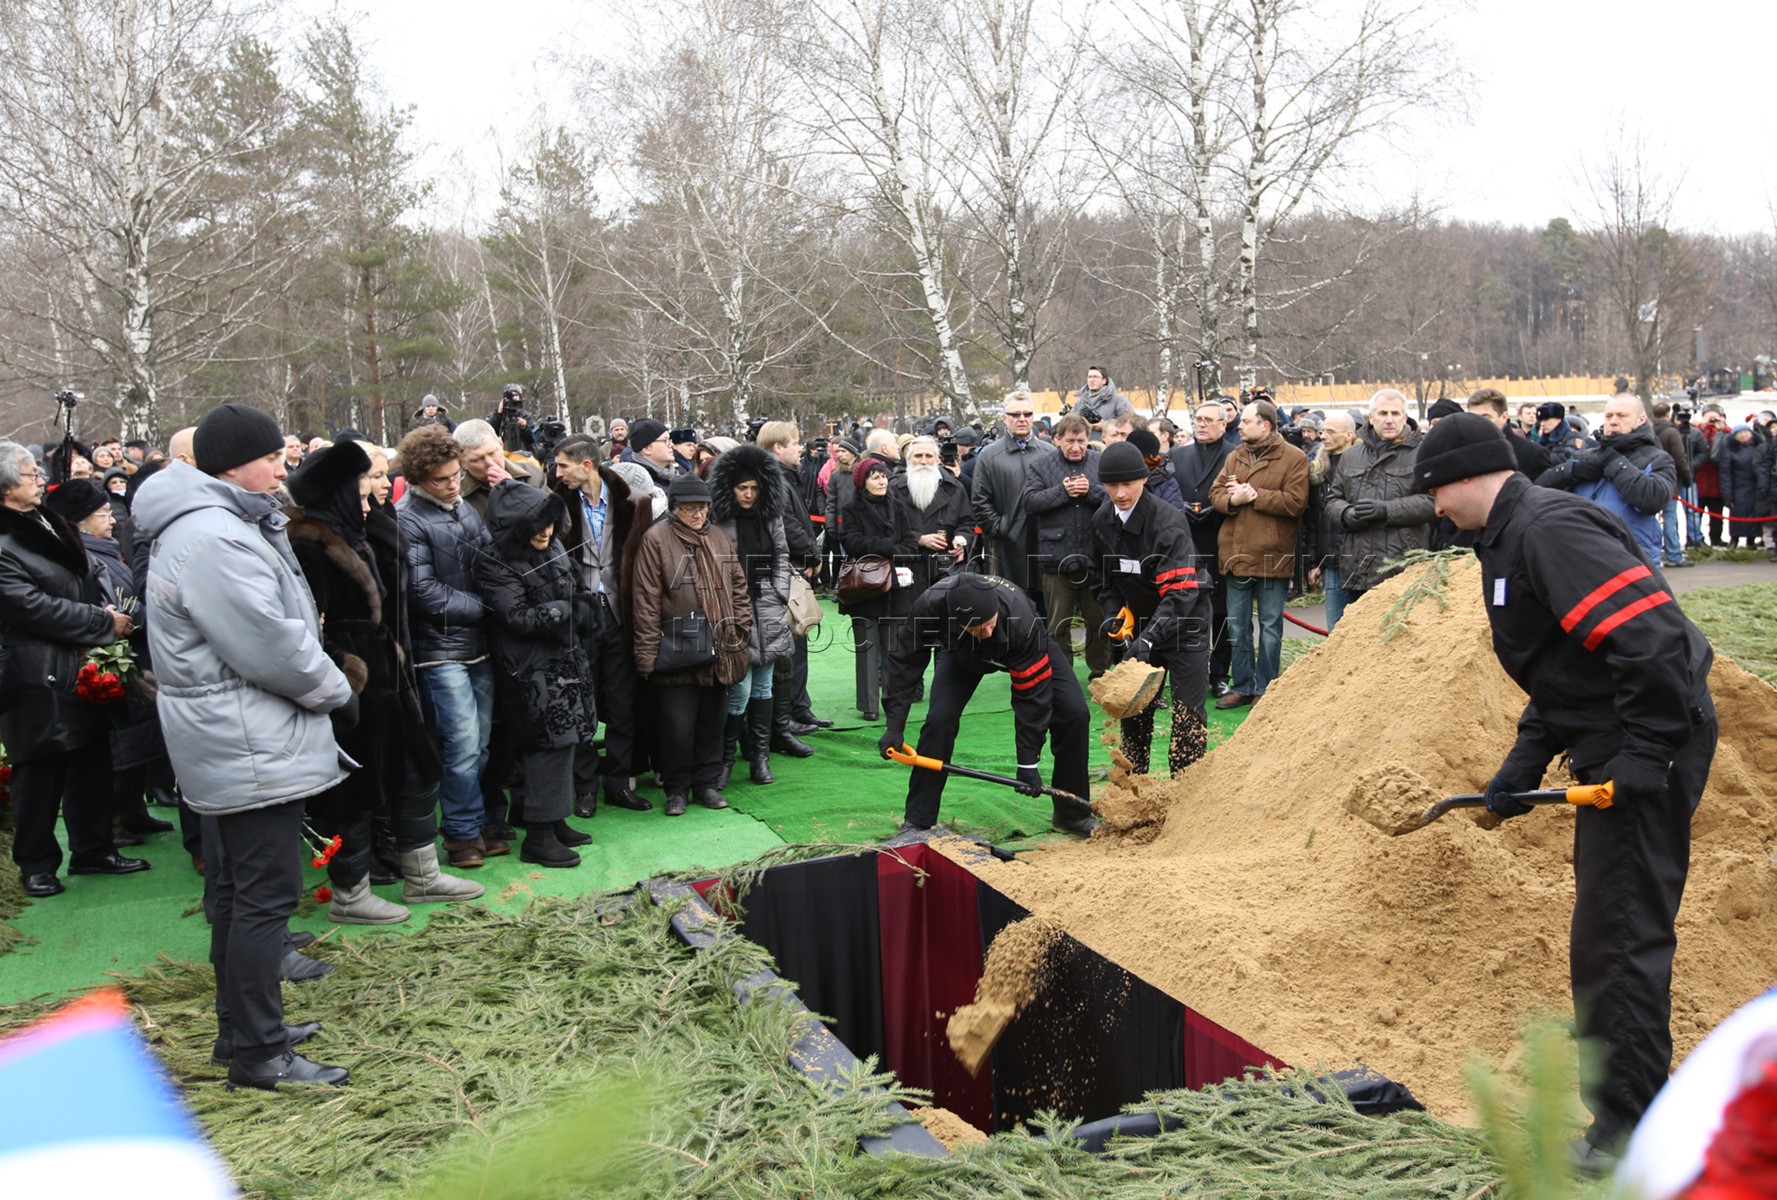
M 919 695 L 931 651 L 938 665 L 931 679 L 931 704 L 919 731 L 920 757 L 949 761 L 963 708 L 981 679 L 1004 670 L 1011 676 L 1011 713 L 1016 722 L 1018 784 L 1029 796 L 1043 795 L 1038 757 L 1043 734 L 1056 759 L 1054 786 L 1086 796 L 1086 756 L 1091 720 L 1073 663 L 1048 636 L 1036 604 L 1013 583 L 988 574 L 952 574 L 938 580 L 913 603 L 888 652 L 888 686 L 883 695 L 887 729 L 878 748 L 883 757 L 906 741 L 906 713 Z M 915 768 L 906 786 L 904 828 L 931 828 L 938 821 L 944 772 Z M 1056 802 L 1056 828 L 1088 836 L 1098 821 Z

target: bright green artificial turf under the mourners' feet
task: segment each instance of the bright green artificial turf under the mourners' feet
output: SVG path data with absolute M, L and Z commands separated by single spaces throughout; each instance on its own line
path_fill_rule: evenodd
M 542 869 L 521 862 L 517 853 L 489 859 L 485 868 L 466 871 L 487 887 L 476 903 L 490 907 L 521 905 L 531 896 L 585 896 L 663 873 L 693 869 L 716 871 L 745 862 L 784 844 L 803 843 L 876 843 L 892 837 L 901 825 L 906 798 L 906 766 L 883 761 L 876 752 L 881 720 L 865 724 L 851 708 L 853 658 L 846 620 L 828 610 L 826 635 L 816 635 L 821 647 L 810 658 L 809 692 L 819 715 L 835 722 L 833 729 L 809 734 L 816 748 L 810 759 L 771 756 L 778 782 L 755 786 L 745 764 L 729 786 L 729 811 L 709 812 L 691 807 L 686 816 L 666 818 L 659 805 L 659 788 L 643 782 L 641 795 L 654 800 L 652 812 L 601 807 L 590 821 L 574 825 L 592 834 L 581 848 L 583 864 L 574 869 Z M 1086 665 L 1075 667 L 1084 686 Z M 1016 754 L 1009 683 L 990 676 L 968 706 L 954 761 L 984 772 L 1013 775 Z M 908 718 L 908 738 L 917 738 L 924 720 L 924 702 Z M 1096 713 L 1096 709 L 1095 709 Z M 1210 745 L 1219 745 L 1247 709 L 1217 711 L 1210 706 Z M 1167 715 L 1159 720 L 1155 743 L 1164 745 Z M 1091 741 L 1093 779 L 1109 770 L 1109 747 Z M 1048 756 L 1043 775 L 1050 773 Z M 171 818 L 172 811 L 158 811 Z M 940 821 L 963 832 L 979 834 L 1013 846 L 1048 832 L 1050 802 L 1022 796 L 1011 788 L 951 779 L 944 793 Z M 66 844 L 66 843 L 64 843 Z M 7 921 L 7 896 L 0 894 L 0 1004 L 59 996 L 105 981 L 107 972 L 133 972 L 160 956 L 203 962 L 208 958 L 210 932 L 201 912 L 203 880 L 179 846 L 178 834 L 158 834 L 128 853 L 155 864 L 151 871 L 121 878 L 68 875 L 68 891 L 25 905 Z M 11 868 L 0 868 L 11 875 Z M 304 871 L 309 891 L 325 884 L 325 873 Z M 16 875 L 14 875 L 16 880 Z M 379 889 L 400 900 L 400 884 Z M 418 905 L 414 917 L 396 926 L 338 926 L 327 919 L 325 905 L 306 900 L 293 928 L 336 939 L 403 933 L 421 928 L 441 905 Z M 34 939 L 34 944 L 28 944 Z M 20 944 L 25 942 L 25 944 Z M 11 946 L 11 949 L 7 949 Z

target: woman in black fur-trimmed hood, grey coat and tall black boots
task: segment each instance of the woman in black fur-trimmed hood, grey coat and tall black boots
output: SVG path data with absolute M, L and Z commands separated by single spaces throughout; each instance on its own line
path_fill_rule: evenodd
M 759 446 L 736 446 L 709 468 L 709 519 L 734 544 L 753 608 L 750 665 L 729 688 L 721 788 L 729 786 L 737 743 L 746 748 L 752 780 L 777 782 L 771 775 L 771 674 L 780 660 L 796 654 L 789 631 L 789 535 L 784 532 L 787 487 L 784 468 Z

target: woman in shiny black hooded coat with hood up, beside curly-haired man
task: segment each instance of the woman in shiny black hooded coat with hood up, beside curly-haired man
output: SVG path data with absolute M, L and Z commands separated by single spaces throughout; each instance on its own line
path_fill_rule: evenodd
M 574 809 L 574 748 L 592 741 L 594 700 L 581 629 L 594 620 L 554 532 L 567 507 L 554 492 L 517 480 L 487 498 L 492 551 L 474 567 L 492 619 L 494 695 L 512 724 L 524 777 L 524 844 L 540 866 L 579 866 L 572 846 L 592 841 L 567 823 Z

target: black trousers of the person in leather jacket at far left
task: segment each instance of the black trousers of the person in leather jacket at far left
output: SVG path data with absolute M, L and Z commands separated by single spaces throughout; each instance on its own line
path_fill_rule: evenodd
M 117 853 L 110 773 L 103 731 L 76 750 L 12 764 L 12 862 L 20 875 L 53 875 L 62 866 L 57 814 L 68 821 L 68 853 L 76 866 Z

